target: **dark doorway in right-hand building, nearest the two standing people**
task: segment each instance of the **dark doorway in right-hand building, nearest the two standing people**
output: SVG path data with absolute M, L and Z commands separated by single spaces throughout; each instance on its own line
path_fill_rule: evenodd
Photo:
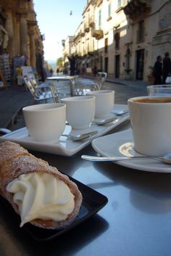
M 144 49 L 136 51 L 136 79 L 143 80 Z

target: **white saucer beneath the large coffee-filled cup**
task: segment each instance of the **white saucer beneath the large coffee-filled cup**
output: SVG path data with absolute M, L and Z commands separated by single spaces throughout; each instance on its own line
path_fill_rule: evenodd
M 133 148 L 131 129 L 103 136 L 92 141 L 93 149 L 104 157 L 131 157 L 140 155 Z M 171 173 L 171 165 L 157 159 L 133 159 L 114 162 L 127 168 L 156 173 Z

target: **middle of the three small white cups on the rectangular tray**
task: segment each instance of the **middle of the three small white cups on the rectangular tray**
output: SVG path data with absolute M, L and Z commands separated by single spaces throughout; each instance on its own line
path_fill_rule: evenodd
M 94 96 L 74 96 L 61 99 L 67 106 L 67 122 L 72 129 L 88 128 L 95 114 Z

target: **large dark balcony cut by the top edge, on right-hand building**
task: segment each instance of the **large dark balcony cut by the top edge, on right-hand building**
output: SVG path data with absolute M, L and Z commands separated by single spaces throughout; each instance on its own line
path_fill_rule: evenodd
M 131 20 L 137 20 L 151 12 L 151 6 L 148 0 L 132 0 L 124 8 L 125 15 Z

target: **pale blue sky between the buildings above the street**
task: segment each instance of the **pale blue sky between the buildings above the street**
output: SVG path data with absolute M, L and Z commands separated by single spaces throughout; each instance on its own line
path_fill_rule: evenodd
M 38 27 L 41 34 L 45 35 L 43 46 L 46 60 L 62 57 L 62 40 L 75 35 L 83 20 L 86 2 L 87 0 L 33 0 Z

